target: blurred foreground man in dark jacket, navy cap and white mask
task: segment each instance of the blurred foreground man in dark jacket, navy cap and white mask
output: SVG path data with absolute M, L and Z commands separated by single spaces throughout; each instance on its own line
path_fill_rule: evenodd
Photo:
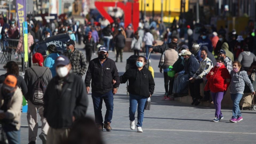
M 70 127 L 85 117 L 88 97 L 81 77 L 71 73 L 69 59 L 61 55 L 55 60 L 57 75 L 51 79 L 44 94 L 44 117 L 50 126 L 47 142 L 63 143 Z

